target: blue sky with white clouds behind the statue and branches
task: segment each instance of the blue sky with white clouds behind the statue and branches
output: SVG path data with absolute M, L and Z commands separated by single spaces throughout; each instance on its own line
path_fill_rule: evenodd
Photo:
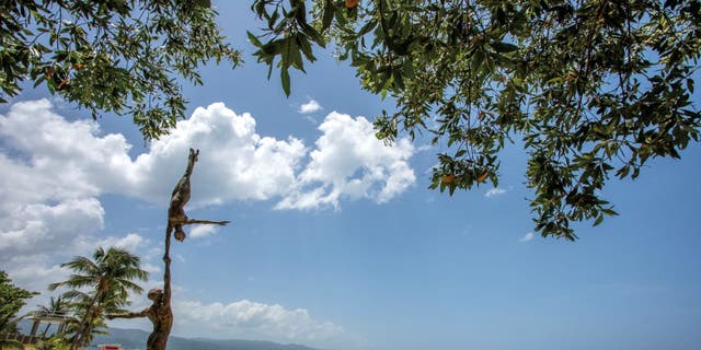
M 575 243 L 541 238 L 518 145 L 502 154 L 498 191 L 432 191 L 436 149 L 372 142 L 368 122 L 391 101 L 331 52 L 292 74 L 286 98 L 250 56 L 249 5 L 215 4 L 246 63 L 206 67 L 205 85 L 185 88 L 192 117 L 161 141 L 41 90 L 0 106 L 0 266 L 43 292 L 30 305 L 97 245 L 139 254 L 145 287 L 158 285 L 168 196 L 194 147 L 188 214 L 232 223 L 174 244 L 174 335 L 348 350 L 701 346 L 699 144 L 611 179 L 620 217 L 578 225 Z

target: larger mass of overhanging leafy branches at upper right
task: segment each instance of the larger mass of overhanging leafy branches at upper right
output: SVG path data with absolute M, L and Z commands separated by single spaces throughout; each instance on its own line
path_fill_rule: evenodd
M 699 140 L 691 95 L 701 52 L 697 0 L 256 0 L 258 61 L 288 69 L 336 45 L 364 89 L 397 112 L 377 136 L 429 135 L 445 149 L 432 188 L 498 185 L 499 151 L 522 144 L 536 230 L 613 215 L 601 190 Z M 268 75 L 269 77 L 269 75 Z

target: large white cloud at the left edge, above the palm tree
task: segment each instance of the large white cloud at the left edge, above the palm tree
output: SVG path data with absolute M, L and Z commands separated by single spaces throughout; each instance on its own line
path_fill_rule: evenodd
M 46 100 L 0 115 L 0 264 L 13 276 L 23 278 L 23 258 L 36 261 L 34 279 L 51 276 L 51 257 L 90 254 L 100 243 L 105 212 L 97 196 L 128 188 L 131 162 L 123 136 L 95 137 L 97 130 L 91 120 L 54 114 Z

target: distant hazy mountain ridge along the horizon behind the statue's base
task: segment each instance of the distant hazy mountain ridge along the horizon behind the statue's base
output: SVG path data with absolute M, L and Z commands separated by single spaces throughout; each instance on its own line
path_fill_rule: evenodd
M 125 350 L 146 349 L 149 332 L 140 329 L 110 328 L 110 335 L 96 335 L 92 343 L 118 343 Z M 217 340 L 169 337 L 168 350 L 318 350 L 299 345 L 281 345 L 258 340 Z

